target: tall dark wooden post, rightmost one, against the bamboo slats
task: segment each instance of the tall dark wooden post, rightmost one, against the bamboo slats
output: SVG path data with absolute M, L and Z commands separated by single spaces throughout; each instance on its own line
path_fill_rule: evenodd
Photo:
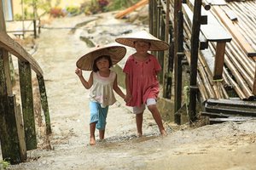
M 199 34 L 201 26 L 201 0 L 195 1 L 193 26 L 191 33 L 191 63 L 190 63 L 190 96 L 189 96 L 189 121 L 194 122 L 196 119 L 196 94 L 198 92 L 196 77 L 197 77 L 197 62 L 199 50 Z

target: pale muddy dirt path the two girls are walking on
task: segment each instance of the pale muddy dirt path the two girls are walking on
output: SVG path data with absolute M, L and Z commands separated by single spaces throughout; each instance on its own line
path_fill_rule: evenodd
M 114 20 L 113 14 L 96 17 L 56 19 L 42 29 L 33 57 L 44 71 L 53 133 L 46 138 L 43 117 L 37 128 L 38 149 L 28 151 L 28 161 L 10 169 L 256 169 L 256 121 L 203 127 L 165 122 L 168 135 L 161 137 L 146 111 L 144 136 L 137 138 L 135 117 L 119 96 L 109 108 L 106 139 L 90 146 L 89 92 L 74 73 L 77 59 L 89 48 L 80 37 L 102 44 L 113 42 L 119 32 L 142 28 Z M 94 21 L 71 32 L 86 20 Z M 84 71 L 84 77 L 89 73 Z

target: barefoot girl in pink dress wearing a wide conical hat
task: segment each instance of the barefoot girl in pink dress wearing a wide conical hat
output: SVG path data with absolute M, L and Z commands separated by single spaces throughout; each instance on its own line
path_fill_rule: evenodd
M 126 105 L 133 107 L 133 112 L 136 114 L 137 135 L 143 135 L 145 105 L 152 113 L 160 133 L 166 135 L 160 112 L 156 106 L 156 99 L 160 91 L 157 74 L 161 67 L 155 56 L 148 54 L 148 50 L 160 50 L 168 48 L 169 45 L 146 31 L 139 32 L 134 37 L 117 38 L 116 42 L 136 49 L 136 53 L 126 60 L 123 71 L 125 72 Z

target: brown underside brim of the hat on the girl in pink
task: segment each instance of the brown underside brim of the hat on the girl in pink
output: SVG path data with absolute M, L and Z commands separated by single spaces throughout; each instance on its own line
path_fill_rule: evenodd
M 143 42 L 149 42 L 150 48 L 149 51 L 162 51 L 167 50 L 169 48 L 169 44 L 160 41 L 160 40 L 153 40 L 153 39 L 146 39 L 146 38 L 135 38 L 135 37 L 119 37 L 115 39 L 116 42 L 119 42 L 120 44 L 129 46 L 131 48 L 134 48 L 134 42 L 143 41 Z

